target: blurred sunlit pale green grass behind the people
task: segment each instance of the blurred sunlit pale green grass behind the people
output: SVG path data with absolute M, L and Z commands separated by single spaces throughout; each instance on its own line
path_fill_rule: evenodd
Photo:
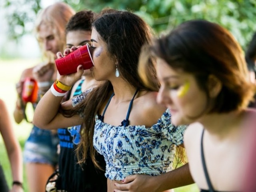
M 34 66 L 37 63 L 38 63 L 38 60 L 28 60 L 28 59 L 1 60 L 0 59 L 0 85 L 1 85 L 0 98 L 4 100 L 4 102 L 6 102 L 6 105 L 8 107 L 8 113 L 12 120 L 14 132 L 20 142 L 20 146 L 22 147 L 22 150 L 24 147 L 24 143 L 30 134 L 32 125 L 27 123 L 25 120 L 23 120 L 22 123 L 20 124 L 16 124 L 16 122 L 14 121 L 12 113 L 15 108 L 15 102 L 16 102 L 16 96 L 17 96 L 16 90 L 15 90 L 15 84 L 16 82 L 18 82 L 20 78 L 20 74 L 25 68 Z M 33 114 L 32 106 L 28 106 L 27 114 L 28 114 L 28 119 L 32 120 L 32 114 Z M 2 137 L 0 137 L 0 148 L 2 149 L 0 150 L 0 163 L 4 168 L 4 174 L 6 176 L 6 180 L 10 187 L 12 183 L 12 175 L 11 175 L 10 163 L 8 160 L 8 156 L 6 154 Z M 24 191 L 28 192 L 28 185 L 27 185 L 25 170 L 24 170 Z M 199 190 L 195 184 L 175 189 L 175 192 L 198 192 L 198 191 Z

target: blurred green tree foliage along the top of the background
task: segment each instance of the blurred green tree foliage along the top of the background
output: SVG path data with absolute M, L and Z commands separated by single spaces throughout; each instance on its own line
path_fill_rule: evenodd
M 14 12 L 8 12 L 10 37 L 31 32 L 26 30 L 26 23 L 35 19 L 41 8 L 41 0 L 7 0 L 5 7 L 17 7 Z M 21 2 L 21 3 L 17 3 Z M 156 31 L 166 32 L 190 19 L 206 19 L 226 27 L 245 47 L 256 31 L 254 19 L 256 16 L 256 0 L 64 0 L 76 11 L 90 9 L 99 12 L 102 8 L 111 7 L 122 10 L 132 10 L 144 18 Z M 30 7 L 28 14 L 22 7 Z M 17 30 L 18 29 L 18 30 Z

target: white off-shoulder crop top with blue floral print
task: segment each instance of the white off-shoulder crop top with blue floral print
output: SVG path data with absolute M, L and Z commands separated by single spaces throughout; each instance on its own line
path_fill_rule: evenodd
M 73 105 L 83 99 L 73 98 Z M 123 180 L 132 174 L 156 176 L 172 170 L 176 146 L 183 143 L 187 127 L 174 126 L 168 109 L 150 128 L 123 123 L 112 126 L 100 115 L 95 116 L 95 122 L 94 148 L 104 156 L 105 176 L 110 180 Z

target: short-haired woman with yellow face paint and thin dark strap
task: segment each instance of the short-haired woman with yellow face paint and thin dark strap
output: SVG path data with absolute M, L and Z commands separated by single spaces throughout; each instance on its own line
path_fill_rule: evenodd
M 149 54 L 150 53 L 150 54 Z M 205 20 L 184 22 L 145 48 L 156 57 L 161 88 L 157 101 L 167 106 L 175 125 L 190 124 L 184 134 L 190 173 L 201 191 L 242 191 L 247 105 L 255 93 L 244 54 L 234 37 Z

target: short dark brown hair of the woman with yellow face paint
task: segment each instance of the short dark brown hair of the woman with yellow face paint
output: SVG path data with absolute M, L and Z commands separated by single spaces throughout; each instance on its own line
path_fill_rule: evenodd
M 148 54 L 150 52 L 150 54 Z M 162 58 L 173 69 L 194 75 L 198 86 L 208 95 L 208 78 L 215 76 L 222 90 L 211 112 L 230 112 L 245 108 L 252 100 L 255 86 L 250 83 L 242 48 L 222 26 L 206 20 L 184 22 L 168 35 L 146 46 L 139 64 L 140 76 L 150 86 L 146 75 L 147 57 Z

